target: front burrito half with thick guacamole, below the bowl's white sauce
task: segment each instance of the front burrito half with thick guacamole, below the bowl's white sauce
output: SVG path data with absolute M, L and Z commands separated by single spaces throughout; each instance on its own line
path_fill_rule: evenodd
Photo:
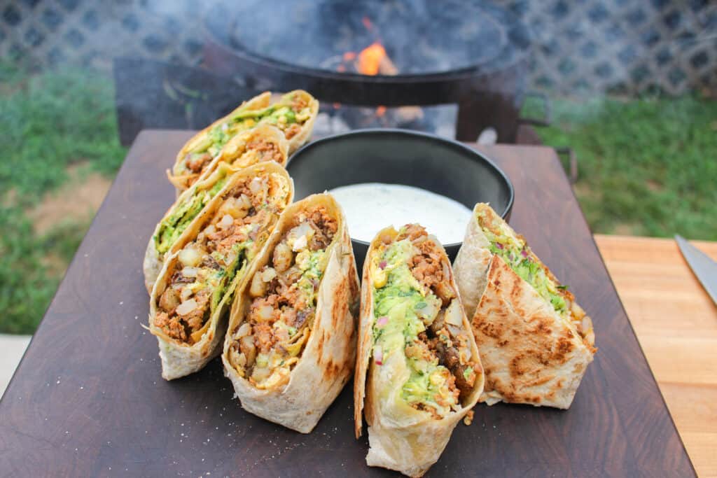
M 419 477 L 483 391 L 483 367 L 440 242 L 418 224 L 379 232 L 364 262 L 354 421 L 369 466 Z M 368 376 L 367 376 L 368 374 Z

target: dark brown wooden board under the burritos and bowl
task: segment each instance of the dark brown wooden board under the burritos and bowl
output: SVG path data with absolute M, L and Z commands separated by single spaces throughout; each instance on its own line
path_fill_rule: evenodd
M 215 360 L 165 382 L 140 327 L 141 262 L 187 131 L 141 133 L 0 402 L 9 476 L 396 476 L 366 467 L 351 384 L 313 433 L 245 413 Z M 553 150 L 480 148 L 516 188 L 511 224 L 593 317 L 569 411 L 479 405 L 428 476 L 687 477 L 693 468 Z

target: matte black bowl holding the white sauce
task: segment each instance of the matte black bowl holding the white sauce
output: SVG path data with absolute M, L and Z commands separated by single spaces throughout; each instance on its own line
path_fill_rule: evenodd
M 513 207 L 513 184 L 493 161 L 456 141 L 409 130 L 356 130 L 316 140 L 294 153 L 286 168 L 296 201 L 338 186 L 394 183 L 442 194 L 471 210 L 488 202 L 506 221 Z M 360 275 L 369 243 L 351 242 Z M 443 244 L 451 261 L 460 244 Z

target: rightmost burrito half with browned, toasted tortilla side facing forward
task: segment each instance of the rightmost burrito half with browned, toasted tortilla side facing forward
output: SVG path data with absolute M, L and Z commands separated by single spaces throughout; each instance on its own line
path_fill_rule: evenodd
M 569 408 L 596 351 L 566 285 L 488 204 L 476 204 L 454 264 L 485 366 L 480 401 Z

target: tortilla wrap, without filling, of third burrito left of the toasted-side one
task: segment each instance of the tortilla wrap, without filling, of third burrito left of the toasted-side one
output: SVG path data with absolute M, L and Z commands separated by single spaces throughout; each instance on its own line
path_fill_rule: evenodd
M 193 221 L 187 228 L 185 231 L 187 234 L 184 244 L 186 245 L 194 240 L 197 234 L 204 229 L 206 221 L 212 219 L 214 212 L 222 206 L 224 200 L 227 199 L 229 191 L 235 184 L 247 177 L 253 178 L 255 176 L 265 175 L 273 176 L 277 182 L 280 183 L 283 190 L 282 197 L 277 197 L 276 201 L 284 208 L 288 206 L 293 199 L 293 181 L 284 168 L 273 161 L 244 168 L 229 178 L 227 185 L 222 188 L 222 191 L 205 206 L 199 218 Z M 278 217 L 275 218 L 275 221 L 269 227 L 257 235 L 255 239 L 254 252 L 256 255 L 254 256 L 254 260 L 259 257 L 260 251 L 269 238 L 272 229 L 277 224 L 277 221 Z M 214 313 L 204 325 L 204 333 L 201 335 L 201 339 L 189 345 L 180 340 L 170 338 L 161 328 L 158 328 L 154 324 L 153 320 L 157 313 L 159 298 L 171 282 L 170 272 L 174 269 L 174 264 L 179 260 L 179 250 L 181 250 L 181 248 L 170 254 L 164 262 L 161 272 L 153 285 L 150 297 L 149 330 L 157 337 L 159 357 L 162 364 L 162 377 L 166 380 L 173 380 L 174 378 L 187 376 L 190 373 L 199 371 L 201 368 L 204 368 L 206 363 L 209 363 L 209 360 L 212 360 L 212 358 L 221 353 L 222 348 L 219 344 L 222 343 L 224 332 L 227 330 L 227 317 L 229 315 L 229 309 L 232 306 L 234 293 L 237 288 L 241 287 L 243 282 L 245 282 L 247 271 L 253 262 L 247 262 L 247 264 L 237 272 L 232 283 L 227 285 L 227 290 L 224 292 L 224 297 L 222 297 L 222 300 L 219 302 L 217 309 L 214 310 Z

